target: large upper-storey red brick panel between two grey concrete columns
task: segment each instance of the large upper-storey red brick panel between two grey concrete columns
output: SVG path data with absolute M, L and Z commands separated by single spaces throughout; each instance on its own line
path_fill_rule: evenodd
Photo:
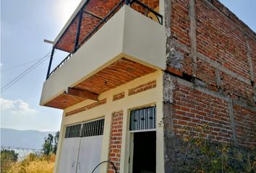
M 243 32 L 206 1 L 196 1 L 195 9 L 197 51 L 249 79 L 247 45 Z

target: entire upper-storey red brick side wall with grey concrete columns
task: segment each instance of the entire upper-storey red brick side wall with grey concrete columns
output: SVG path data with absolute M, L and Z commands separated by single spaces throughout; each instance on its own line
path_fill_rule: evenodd
M 191 1 L 195 3 L 194 9 L 191 7 Z M 168 45 L 183 55 L 180 71 L 192 76 L 195 63 L 195 76 L 208 88 L 219 89 L 230 97 L 242 98 L 251 104 L 256 102 L 251 84 L 256 79 L 255 32 L 216 0 L 171 0 L 169 17 L 172 43 Z M 194 27 L 191 26 L 192 19 L 196 21 Z M 193 30 L 195 38 L 192 36 Z M 195 61 L 192 60 L 193 40 L 197 51 Z M 247 57 L 248 46 L 251 64 Z M 208 61 L 200 57 L 207 58 Z M 216 74 L 216 66 L 221 69 L 220 74 Z M 250 66 L 253 68 L 253 79 Z M 237 79 L 237 76 L 240 79 Z M 216 79 L 219 79 L 221 84 L 218 84 Z

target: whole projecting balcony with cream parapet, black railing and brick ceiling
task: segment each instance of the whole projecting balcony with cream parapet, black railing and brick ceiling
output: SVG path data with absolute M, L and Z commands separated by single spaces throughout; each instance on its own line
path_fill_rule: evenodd
M 109 89 L 165 68 L 165 29 L 161 15 L 153 10 L 158 4 L 151 9 L 140 1 L 130 1 L 129 6 L 124 2 L 108 4 L 111 11 L 106 17 L 90 9 L 99 7 L 90 1 L 78 7 L 54 41 L 54 48 L 69 56 L 51 72 L 50 61 L 40 105 L 65 109 L 85 99 L 98 100 Z M 85 25 L 85 21 L 90 22 Z

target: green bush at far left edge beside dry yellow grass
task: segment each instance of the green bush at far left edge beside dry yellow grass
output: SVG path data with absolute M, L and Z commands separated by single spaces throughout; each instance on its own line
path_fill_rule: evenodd
M 1 172 L 8 172 L 8 169 L 17 159 L 18 154 L 14 150 L 1 149 Z

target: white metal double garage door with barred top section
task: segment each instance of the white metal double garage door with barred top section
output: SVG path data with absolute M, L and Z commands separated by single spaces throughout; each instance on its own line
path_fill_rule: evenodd
M 101 162 L 103 127 L 104 119 L 67 126 L 61 148 L 59 173 L 93 171 Z

